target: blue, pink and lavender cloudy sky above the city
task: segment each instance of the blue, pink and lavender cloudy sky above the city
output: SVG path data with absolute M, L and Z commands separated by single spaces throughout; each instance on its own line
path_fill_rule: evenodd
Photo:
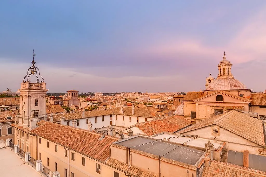
M 32 66 L 48 93 L 205 89 L 225 51 L 232 74 L 266 89 L 266 1 L 0 1 L 0 92 Z

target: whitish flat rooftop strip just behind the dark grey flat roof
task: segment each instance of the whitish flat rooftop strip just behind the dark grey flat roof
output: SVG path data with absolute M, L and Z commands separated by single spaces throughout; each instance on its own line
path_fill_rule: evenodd
M 170 138 L 170 137 L 174 137 L 175 138 Z M 163 139 L 163 138 L 170 138 L 169 141 L 173 142 L 173 143 L 179 143 L 179 144 L 183 144 L 183 143 L 187 143 L 186 145 L 188 146 L 194 146 L 194 147 L 199 147 L 199 148 L 205 148 L 205 144 L 208 143 L 208 141 L 210 141 L 213 144 L 213 147 L 218 149 L 220 145 L 222 145 L 222 141 L 212 141 L 212 140 L 208 140 L 208 139 L 204 139 L 204 138 L 195 138 L 194 137 L 185 137 L 185 136 L 178 136 L 177 135 L 172 135 L 172 134 L 161 134 L 158 136 L 154 137 L 155 139 Z

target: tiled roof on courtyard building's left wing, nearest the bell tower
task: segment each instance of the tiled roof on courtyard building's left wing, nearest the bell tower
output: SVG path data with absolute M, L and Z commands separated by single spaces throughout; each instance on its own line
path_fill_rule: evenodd
M 84 118 L 104 116 L 104 115 L 110 115 L 110 114 L 114 114 L 111 109 L 85 111 L 85 117 Z M 65 118 L 65 120 L 74 120 L 74 119 L 81 119 L 82 118 L 81 112 L 76 112 L 76 113 L 53 115 L 53 121 L 54 122 L 60 122 L 60 119 L 62 117 Z

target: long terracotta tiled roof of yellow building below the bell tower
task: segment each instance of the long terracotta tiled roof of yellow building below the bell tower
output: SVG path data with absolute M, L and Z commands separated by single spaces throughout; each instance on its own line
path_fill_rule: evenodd
M 109 145 L 118 140 L 108 135 L 100 139 L 101 134 L 99 133 L 44 120 L 37 122 L 37 125 L 38 127 L 31 130 L 30 133 L 99 161 L 109 158 Z M 23 129 L 23 126 L 14 124 L 12 126 Z

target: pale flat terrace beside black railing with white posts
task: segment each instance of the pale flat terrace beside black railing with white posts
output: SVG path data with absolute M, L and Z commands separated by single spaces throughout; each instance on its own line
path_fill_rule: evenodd
M 24 161 L 20 159 L 17 154 L 8 149 L 8 147 L 0 149 L 0 176 L 41 176 L 41 174 L 31 167 L 32 166 L 28 165 L 28 163 L 24 164 Z

